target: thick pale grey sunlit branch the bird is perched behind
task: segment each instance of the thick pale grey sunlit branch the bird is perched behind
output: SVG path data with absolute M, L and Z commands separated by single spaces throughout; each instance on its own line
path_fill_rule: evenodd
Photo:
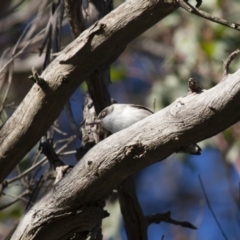
M 105 197 L 125 178 L 191 143 L 209 138 L 240 119 L 240 70 L 215 87 L 177 99 L 165 109 L 93 147 L 73 170 L 22 218 L 12 239 L 32 239 L 32 227 L 50 229 Z M 64 197 L 63 197 L 64 196 Z M 49 223 L 49 216 L 53 220 Z M 36 233 L 38 234 L 38 233 Z M 39 233 L 40 234 L 40 233 Z M 36 239 L 41 239 L 39 235 Z M 52 238 L 57 239 L 57 238 Z

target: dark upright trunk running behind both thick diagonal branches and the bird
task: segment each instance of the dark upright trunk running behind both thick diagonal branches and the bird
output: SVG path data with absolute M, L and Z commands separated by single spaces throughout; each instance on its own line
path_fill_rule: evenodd
M 112 0 L 82 1 L 81 7 L 76 7 L 76 4 L 80 1 L 65 0 L 65 2 L 69 23 L 75 38 L 80 32 L 112 11 L 113 8 Z M 81 16 L 80 19 L 79 16 Z M 85 99 L 87 102 L 84 107 L 84 124 L 81 127 L 83 138 L 82 146 L 78 150 L 78 157 L 82 157 L 95 143 L 98 143 L 99 140 L 102 139 L 101 126 L 91 126 L 88 125 L 88 122 L 94 122 L 96 114 L 98 115 L 105 107 L 111 104 L 111 98 L 107 88 L 109 82 L 109 67 L 102 72 L 93 72 L 89 78 L 86 79 L 88 92 L 92 100 Z M 93 102 L 94 111 L 90 110 L 91 104 L 88 103 L 90 101 Z M 107 135 L 105 134 L 104 138 L 106 137 Z M 118 198 L 129 240 L 147 239 L 147 225 L 145 224 L 145 218 L 136 197 L 134 182 L 131 179 L 125 180 L 124 183 L 118 187 Z M 131 199 L 130 202 L 129 199 Z

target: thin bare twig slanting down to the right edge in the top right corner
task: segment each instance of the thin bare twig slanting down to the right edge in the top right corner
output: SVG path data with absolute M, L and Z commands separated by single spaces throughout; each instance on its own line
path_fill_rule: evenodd
M 199 10 L 199 9 L 193 7 L 191 4 L 185 2 L 184 0 L 177 0 L 177 2 L 178 2 L 179 6 L 181 8 L 185 9 L 187 12 L 189 12 L 191 14 L 197 15 L 199 17 L 208 19 L 212 22 L 219 23 L 219 24 L 224 25 L 226 27 L 229 27 L 229 28 L 240 31 L 240 24 L 238 24 L 238 23 L 232 23 L 232 22 L 229 22 L 229 21 L 227 21 L 223 18 L 214 17 L 207 12 L 204 12 L 202 10 Z

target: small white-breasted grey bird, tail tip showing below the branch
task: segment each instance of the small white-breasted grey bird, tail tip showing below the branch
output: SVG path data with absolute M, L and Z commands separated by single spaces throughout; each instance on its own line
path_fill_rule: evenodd
M 109 132 L 116 133 L 152 114 L 151 110 L 140 105 L 115 103 L 103 109 L 95 123 L 100 123 Z M 201 148 L 197 144 L 191 144 L 180 151 L 194 155 L 201 154 Z

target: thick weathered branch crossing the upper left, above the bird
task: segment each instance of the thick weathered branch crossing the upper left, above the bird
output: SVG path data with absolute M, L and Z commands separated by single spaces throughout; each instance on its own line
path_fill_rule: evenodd
M 74 90 L 136 36 L 178 8 L 170 0 L 127 1 L 84 31 L 42 73 L 0 132 L 0 182 L 58 117 Z

